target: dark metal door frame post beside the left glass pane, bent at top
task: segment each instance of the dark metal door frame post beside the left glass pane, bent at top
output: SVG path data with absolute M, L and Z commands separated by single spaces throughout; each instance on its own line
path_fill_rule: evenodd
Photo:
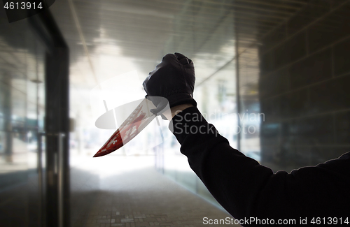
M 38 150 L 43 195 L 40 226 L 69 227 L 69 48 L 50 10 L 29 17 L 29 24 L 46 52 L 45 133 L 39 136 L 40 140 L 43 135 L 46 139 L 45 172 L 41 168 L 42 149 Z

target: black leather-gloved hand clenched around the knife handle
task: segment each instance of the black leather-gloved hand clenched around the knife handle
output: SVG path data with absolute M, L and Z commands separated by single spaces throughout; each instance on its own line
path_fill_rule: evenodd
M 152 110 L 156 115 L 167 106 L 165 98 L 169 101 L 170 108 L 184 103 L 197 106 L 193 99 L 195 67 L 193 61 L 183 54 L 165 55 L 162 62 L 144 80 L 143 86 L 147 93 L 146 98 L 157 107 Z

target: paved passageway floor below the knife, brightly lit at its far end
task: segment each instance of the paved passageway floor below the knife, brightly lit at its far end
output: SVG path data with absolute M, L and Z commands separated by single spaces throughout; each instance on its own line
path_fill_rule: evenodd
M 152 166 L 139 165 L 133 170 L 131 163 L 135 159 L 130 158 L 99 161 L 104 163 L 99 166 L 102 172 L 92 170 L 96 162 L 91 161 L 84 161 L 85 167 L 90 166 L 89 173 L 80 168 L 71 169 L 73 227 L 208 226 L 203 224 L 204 217 L 230 217 Z

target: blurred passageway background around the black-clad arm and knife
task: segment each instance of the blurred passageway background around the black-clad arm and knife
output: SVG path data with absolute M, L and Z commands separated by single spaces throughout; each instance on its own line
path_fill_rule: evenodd
M 97 118 L 143 98 L 167 53 L 194 61 L 198 108 L 246 156 L 274 172 L 336 159 L 350 147 L 349 24 L 349 0 L 57 0 L 13 23 L 1 9 L 0 226 L 229 217 L 162 119 L 92 159 L 116 128 Z

